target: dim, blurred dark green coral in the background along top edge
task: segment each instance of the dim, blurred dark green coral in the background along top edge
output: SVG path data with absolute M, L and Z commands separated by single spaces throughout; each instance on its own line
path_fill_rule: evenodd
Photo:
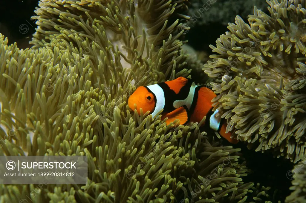
M 219 23 L 227 25 L 232 22 L 237 15 L 247 18 L 254 6 L 267 11 L 267 3 L 264 0 L 200 0 L 191 1 L 188 15 L 191 17 L 189 23 L 191 27 L 208 25 L 209 23 Z

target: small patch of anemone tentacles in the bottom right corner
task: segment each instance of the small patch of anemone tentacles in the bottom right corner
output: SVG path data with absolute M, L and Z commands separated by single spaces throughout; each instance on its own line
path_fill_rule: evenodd
M 302 203 L 306 200 L 306 170 L 305 160 L 287 172 L 287 177 L 292 180 L 290 190 L 293 192 L 286 198 L 285 203 Z

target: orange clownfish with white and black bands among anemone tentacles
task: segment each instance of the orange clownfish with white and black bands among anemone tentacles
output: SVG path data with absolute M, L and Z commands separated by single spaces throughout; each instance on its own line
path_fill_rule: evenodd
M 231 132 L 226 133 L 225 119 L 221 118 L 221 114 L 216 116 L 218 109 L 213 112 L 211 100 L 216 96 L 205 85 L 196 85 L 188 78 L 178 77 L 175 80 L 138 87 L 129 97 L 128 105 L 134 111 L 136 104 L 139 115 L 141 108 L 143 112 L 149 111 L 153 118 L 163 109 L 161 119 L 168 118 L 167 125 L 176 119 L 179 119 L 181 125 L 188 122 L 199 123 L 206 116 L 202 126 L 209 125 L 226 140 L 236 144 L 238 140 L 231 138 Z

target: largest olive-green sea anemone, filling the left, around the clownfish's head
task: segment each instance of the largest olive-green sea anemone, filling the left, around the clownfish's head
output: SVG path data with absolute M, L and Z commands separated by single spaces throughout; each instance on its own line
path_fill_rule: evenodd
M 0 34 L 0 155 L 88 157 L 85 185 L 1 185 L 1 201 L 247 201 L 254 184 L 243 182 L 241 149 L 201 132 L 204 120 L 174 129 L 126 105 L 136 87 L 191 72 L 184 9 L 181 0 L 44 0 L 32 48 Z

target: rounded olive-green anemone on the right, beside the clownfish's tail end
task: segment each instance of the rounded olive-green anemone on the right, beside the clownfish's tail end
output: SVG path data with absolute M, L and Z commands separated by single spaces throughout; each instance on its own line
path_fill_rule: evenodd
M 296 163 L 306 146 L 306 2 L 267 2 L 269 15 L 254 8 L 249 24 L 239 16 L 229 23 L 203 70 L 215 80 L 227 129 L 256 151 Z

